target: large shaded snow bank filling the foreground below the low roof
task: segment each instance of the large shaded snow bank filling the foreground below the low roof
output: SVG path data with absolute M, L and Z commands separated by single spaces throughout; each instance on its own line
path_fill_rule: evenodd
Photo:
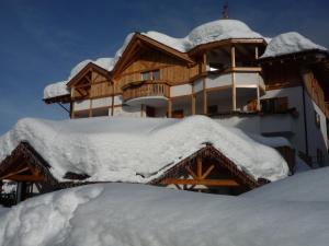
M 0 245 L 327 246 L 328 221 L 328 202 L 107 184 L 22 202 L 0 220 Z

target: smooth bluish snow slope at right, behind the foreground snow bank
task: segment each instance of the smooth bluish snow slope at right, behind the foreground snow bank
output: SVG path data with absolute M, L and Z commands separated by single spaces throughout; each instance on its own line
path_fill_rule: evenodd
M 241 196 L 264 200 L 329 202 L 328 177 L 329 167 L 308 171 Z

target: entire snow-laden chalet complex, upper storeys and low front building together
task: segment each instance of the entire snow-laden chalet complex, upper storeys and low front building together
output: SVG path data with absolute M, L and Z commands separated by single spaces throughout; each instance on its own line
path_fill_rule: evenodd
M 237 195 L 293 173 L 292 148 L 326 165 L 328 60 L 297 33 L 270 40 L 235 20 L 133 33 L 46 86 L 72 120 L 19 121 L 0 138 L 0 180 L 18 200 L 102 181 Z

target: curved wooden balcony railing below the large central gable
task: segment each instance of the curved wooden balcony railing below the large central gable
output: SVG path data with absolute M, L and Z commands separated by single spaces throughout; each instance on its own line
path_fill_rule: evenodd
M 143 81 L 127 84 L 123 87 L 123 99 L 134 99 L 146 96 L 170 96 L 170 87 L 166 82 Z

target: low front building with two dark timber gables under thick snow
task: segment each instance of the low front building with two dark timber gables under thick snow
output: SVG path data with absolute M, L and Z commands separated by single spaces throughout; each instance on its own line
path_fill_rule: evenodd
M 238 195 L 288 175 L 271 147 L 204 116 L 22 119 L 0 138 L 0 180 L 18 181 L 18 201 L 93 183 L 138 183 Z

